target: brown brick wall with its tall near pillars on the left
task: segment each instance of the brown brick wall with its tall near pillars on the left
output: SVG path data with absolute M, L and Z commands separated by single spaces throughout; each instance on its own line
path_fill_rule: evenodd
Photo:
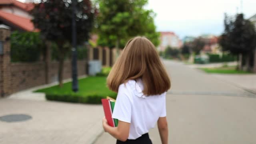
M 50 61 L 49 46 L 46 48 L 46 60 L 40 62 L 10 62 L 10 29 L 0 25 L 0 41 L 3 42 L 3 54 L 0 54 L 0 97 L 34 86 L 58 81 L 58 62 Z M 86 60 L 77 62 L 78 76 L 86 74 Z M 63 66 L 63 79 L 71 78 L 71 62 Z

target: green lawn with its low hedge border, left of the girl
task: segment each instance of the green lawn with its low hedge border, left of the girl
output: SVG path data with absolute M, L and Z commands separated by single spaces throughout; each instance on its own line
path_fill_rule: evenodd
M 106 86 L 105 76 L 91 76 L 78 80 L 79 91 L 72 91 L 72 82 L 63 84 L 60 88 L 58 85 L 49 88 L 36 90 L 35 92 L 44 92 L 48 100 L 57 100 L 64 102 L 79 103 L 100 103 L 101 98 L 110 96 L 116 98 L 116 93 L 110 91 Z

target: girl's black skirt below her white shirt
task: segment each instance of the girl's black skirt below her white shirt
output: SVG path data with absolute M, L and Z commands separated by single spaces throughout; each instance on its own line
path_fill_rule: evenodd
M 126 140 L 125 142 L 122 142 L 120 140 L 116 140 L 116 144 L 152 144 L 148 133 L 143 134 L 142 136 L 140 136 L 139 138 L 137 138 L 136 140 Z

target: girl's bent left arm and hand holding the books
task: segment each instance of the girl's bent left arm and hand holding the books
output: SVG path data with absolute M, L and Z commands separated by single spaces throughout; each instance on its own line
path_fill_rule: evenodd
M 104 131 L 111 134 L 114 138 L 121 140 L 123 142 L 127 140 L 130 131 L 130 123 L 118 120 L 118 126 L 112 127 L 108 125 L 108 122 L 104 117 L 102 120 L 102 125 Z

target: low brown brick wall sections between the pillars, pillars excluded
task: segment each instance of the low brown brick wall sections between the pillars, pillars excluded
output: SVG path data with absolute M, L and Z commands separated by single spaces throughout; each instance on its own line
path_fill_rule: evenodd
M 11 71 L 11 82 L 10 92 L 18 92 L 34 86 L 46 84 L 46 69 L 45 62 L 34 62 L 34 63 L 12 63 L 10 65 Z M 58 62 L 50 62 L 48 69 L 49 81 L 58 81 Z M 77 62 L 78 76 L 86 74 L 86 61 L 80 60 Z M 64 62 L 63 78 L 71 78 L 71 62 Z

